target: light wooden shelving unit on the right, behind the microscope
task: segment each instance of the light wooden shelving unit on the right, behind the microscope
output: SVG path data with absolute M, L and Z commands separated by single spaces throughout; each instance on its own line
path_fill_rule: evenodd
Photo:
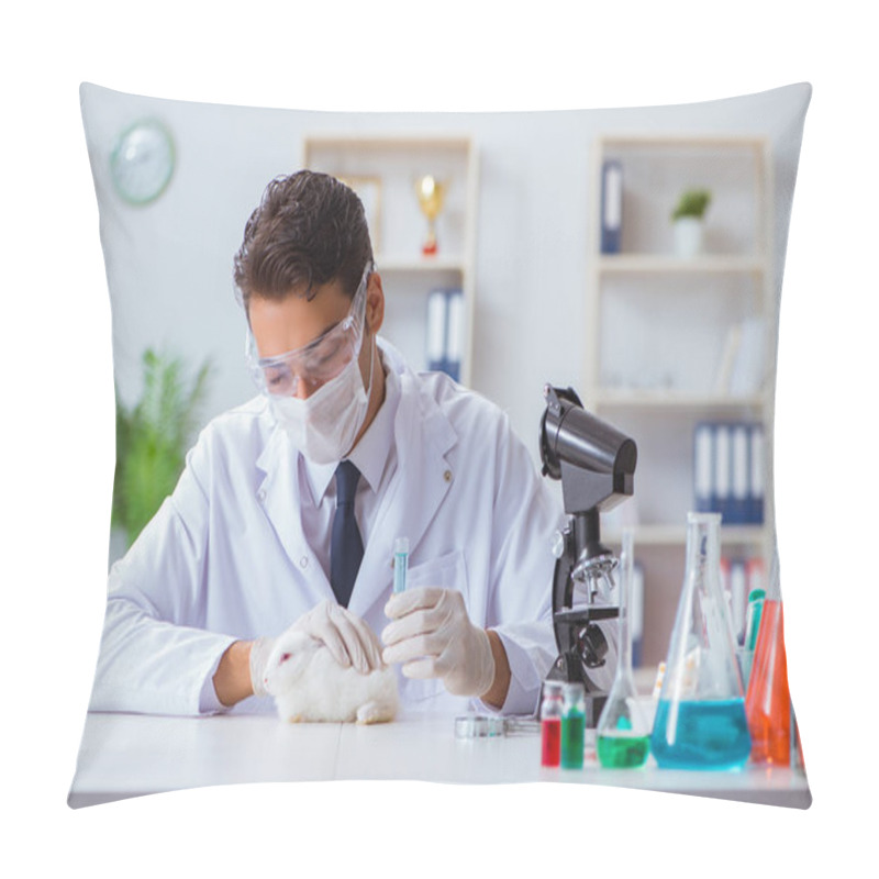
M 601 252 L 601 177 L 622 165 L 622 245 Z M 724 525 L 727 557 L 771 558 L 771 449 L 776 298 L 772 163 L 761 137 L 603 136 L 592 152 L 590 276 L 585 333 L 587 409 L 633 436 L 635 552 L 645 567 L 644 656 L 665 658 L 683 575 L 686 512 L 694 509 L 692 430 L 701 420 L 759 421 L 765 431 L 765 518 Z M 712 190 L 702 255 L 674 255 L 670 211 L 690 187 Z M 759 318 L 766 341 L 760 387 L 713 387 L 728 327 Z M 688 322 L 692 331 L 688 334 Z M 619 545 L 619 522 L 607 538 Z

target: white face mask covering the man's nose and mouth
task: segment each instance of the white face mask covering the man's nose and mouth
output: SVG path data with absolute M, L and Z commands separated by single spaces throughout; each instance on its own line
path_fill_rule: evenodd
M 375 340 L 370 340 L 369 388 L 364 388 L 359 359 L 351 363 L 310 397 L 269 396 L 269 405 L 290 442 L 314 464 L 333 464 L 351 452 L 366 419 L 372 390 Z

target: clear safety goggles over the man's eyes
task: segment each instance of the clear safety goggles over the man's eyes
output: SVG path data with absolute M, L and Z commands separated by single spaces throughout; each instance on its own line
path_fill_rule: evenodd
M 301 348 L 276 357 L 259 357 L 248 327 L 245 357 L 259 390 L 277 397 L 293 397 L 301 382 L 307 391 L 305 396 L 312 394 L 336 378 L 360 354 L 366 287 L 370 271 L 371 266 L 367 265 L 347 316 Z

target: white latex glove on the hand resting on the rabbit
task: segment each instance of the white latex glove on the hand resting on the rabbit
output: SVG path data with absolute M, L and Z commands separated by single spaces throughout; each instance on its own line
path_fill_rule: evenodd
M 383 666 L 376 633 L 359 616 L 330 599 L 302 614 L 287 631 L 304 632 L 323 642 L 343 668 L 354 666 L 361 675 L 367 675 Z M 255 696 L 268 694 L 263 678 L 275 641 L 262 637 L 251 645 L 251 685 Z

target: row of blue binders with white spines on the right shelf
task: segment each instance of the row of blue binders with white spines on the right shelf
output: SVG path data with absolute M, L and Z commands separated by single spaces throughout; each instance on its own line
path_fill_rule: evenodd
M 764 521 L 765 434 L 759 422 L 699 422 L 693 429 L 693 493 L 700 513 L 725 525 Z

